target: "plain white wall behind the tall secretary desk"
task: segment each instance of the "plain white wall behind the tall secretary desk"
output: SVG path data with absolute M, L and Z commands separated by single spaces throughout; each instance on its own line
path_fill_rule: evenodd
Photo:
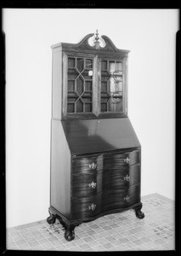
M 99 30 L 130 49 L 128 114 L 142 145 L 142 195 L 174 200 L 177 9 L 3 9 L 7 228 L 48 217 L 52 56 Z

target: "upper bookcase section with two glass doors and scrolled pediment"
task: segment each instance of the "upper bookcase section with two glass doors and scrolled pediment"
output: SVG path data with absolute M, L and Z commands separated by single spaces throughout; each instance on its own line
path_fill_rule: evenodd
M 60 53 L 59 83 L 55 79 L 54 108 L 61 119 L 102 119 L 127 116 L 127 57 L 110 38 L 88 34 L 79 44 L 55 44 Z M 54 59 L 59 62 L 57 57 Z M 58 69 L 57 71 L 58 72 Z M 61 85 L 61 106 L 58 102 Z M 53 115 L 54 115 L 53 113 Z

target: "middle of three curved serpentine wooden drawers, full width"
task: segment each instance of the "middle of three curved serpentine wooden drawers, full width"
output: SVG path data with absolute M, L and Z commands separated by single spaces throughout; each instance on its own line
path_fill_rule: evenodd
M 140 182 L 140 165 L 127 169 L 105 169 L 104 172 L 72 175 L 72 196 L 96 195 L 105 189 L 127 188 Z

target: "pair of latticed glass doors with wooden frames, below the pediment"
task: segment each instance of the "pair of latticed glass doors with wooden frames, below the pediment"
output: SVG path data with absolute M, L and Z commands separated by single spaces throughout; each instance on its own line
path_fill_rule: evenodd
M 125 116 L 123 59 L 101 59 L 99 55 L 65 55 L 63 66 L 65 118 Z

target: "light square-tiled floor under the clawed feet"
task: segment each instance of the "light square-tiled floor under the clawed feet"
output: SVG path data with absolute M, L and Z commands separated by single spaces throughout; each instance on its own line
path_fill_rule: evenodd
M 174 250 L 174 203 L 158 195 L 142 198 L 145 217 L 133 210 L 106 215 L 76 227 L 76 237 L 66 241 L 59 221 L 46 220 L 7 229 L 7 249 L 53 251 Z

